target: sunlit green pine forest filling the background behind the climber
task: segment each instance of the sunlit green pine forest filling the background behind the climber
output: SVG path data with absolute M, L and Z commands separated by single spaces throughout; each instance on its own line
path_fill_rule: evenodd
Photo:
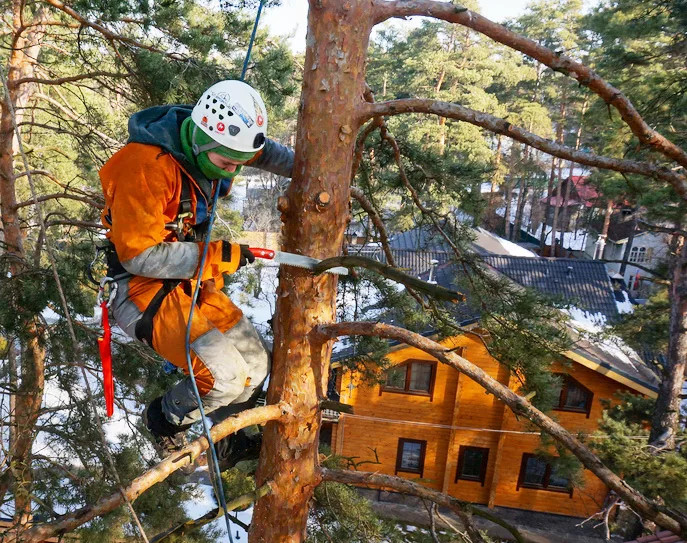
M 465 7 L 478 11 L 470 2 Z M 582 8 L 575 0 L 535 2 L 506 27 L 594 69 L 622 90 L 652 129 L 684 148 L 684 2 L 620 0 Z M 132 113 L 157 104 L 193 103 L 213 82 L 239 76 L 253 15 L 234 5 L 90 0 L 69 5 L 6 1 L 3 14 L 0 511 L 26 526 L 96 503 L 156 463 L 139 414 L 176 376 L 164 373 L 152 351 L 117 341 L 115 398 L 131 433 L 103 440 L 92 409 L 92 398 L 101 407 L 102 383 L 99 329 L 90 318 L 97 289 L 85 269 L 102 239 L 97 172 L 126 143 Z M 246 80 L 265 98 L 270 137 L 286 144 L 295 141 L 304 63 L 282 38 L 258 33 Z M 354 194 L 353 215 L 369 216 L 373 210 L 388 232 L 427 225 L 450 238 L 459 249 L 456 261 L 473 278 L 466 288 L 490 308 L 484 326 L 494 338 L 495 352 L 522 372 L 524 393 L 536 392 L 538 407 L 546 409 L 551 401 L 547 367 L 567 345 L 556 326 L 557 313 L 547 300 L 495 285 L 479 273 L 466 250 L 470 234 L 456 219 L 456 210 L 472 217 L 474 225 L 517 237 L 523 221 L 536 221 L 525 216 L 526 198 L 539 201 L 574 170 L 584 169 L 603 197 L 600 213 L 620 204 L 647 228 L 671 233 L 671 258 L 654 296 L 615 333 L 633 346 L 668 353 L 659 371 L 663 382 L 672 385 L 662 388 L 656 406 L 628 401 L 625 409 L 609 414 L 606 431 L 612 437 L 597 452 L 634 488 L 684 514 L 687 458 L 675 382 L 683 381 L 687 354 L 685 339 L 676 340 L 687 335 L 685 200 L 677 184 L 666 182 L 684 176 L 684 166 L 638 143 L 618 112 L 579 82 L 468 27 L 426 20 L 413 29 L 383 28 L 370 43 L 366 80 L 369 95 L 378 102 L 425 98 L 459 104 L 579 153 L 579 160 L 552 157 L 535 145 L 460 122 L 447 111 L 394 115 L 370 124 L 354 157 L 359 197 Z M 610 169 L 595 168 L 581 162 L 583 155 L 615 157 L 615 162 Z M 484 183 L 498 187 L 498 195 L 482 194 Z M 516 211 L 512 231 L 505 222 L 499 224 L 496 212 L 506 204 Z M 232 230 L 240 230 L 242 217 L 227 206 L 219 214 Z M 228 227 L 219 226 L 214 235 L 226 237 Z M 383 234 L 375 228 L 371 236 Z M 402 310 L 408 329 L 432 323 L 445 334 L 455 331 L 444 307 L 418 306 L 416 299 L 399 296 L 374 276 L 362 274 L 356 281 L 377 285 L 387 305 Z M 541 341 L 533 345 L 532 335 Z M 361 343 L 369 352 L 380 347 L 379 341 Z M 627 439 L 647 433 L 648 427 L 653 449 Z M 197 491 L 184 482 L 173 475 L 136 500 L 146 533 L 186 518 L 183 503 Z M 228 487 L 245 491 L 251 484 Z M 337 492 L 338 509 L 333 517 L 321 513 L 321 522 L 336 528 L 338 540 L 407 536 L 394 536 L 394 527 L 375 520 L 368 510 L 357 513 L 356 521 L 356 508 L 364 506 L 347 490 L 337 487 Z M 315 501 L 322 505 L 317 494 Z M 136 537 L 137 528 L 122 507 L 79 532 L 85 541 L 108 541 Z M 325 533 L 313 528 L 311 537 L 324 541 Z M 184 540 L 214 537 L 194 532 Z M 417 537 L 431 540 L 431 534 Z

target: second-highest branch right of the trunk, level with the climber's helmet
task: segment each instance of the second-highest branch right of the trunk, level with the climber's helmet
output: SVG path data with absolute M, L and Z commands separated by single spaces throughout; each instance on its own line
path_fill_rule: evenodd
M 687 200 L 687 179 L 684 175 L 676 173 L 665 166 L 659 166 L 658 164 L 652 164 L 650 162 L 603 157 L 583 151 L 576 151 L 572 147 L 561 145 L 528 132 L 519 126 L 509 123 L 505 119 L 494 117 L 488 113 L 475 111 L 458 104 L 411 98 L 405 100 L 391 100 L 389 102 L 377 102 L 374 104 L 365 103 L 361 104 L 359 108 L 361 122 L 379 115 L 398 115 L 401 113 L 431 113 L 439 115 L 440 117 L 464 121 L 485 128 L 496 134 L 503 134 L 504 136 L 525 143 L 549 155 L 570 160 L 578 164 L 662 179 L 670 183 L 681 198 Z

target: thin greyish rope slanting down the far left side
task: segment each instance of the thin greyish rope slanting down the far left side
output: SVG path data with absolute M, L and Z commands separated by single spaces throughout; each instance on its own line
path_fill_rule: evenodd
M 24 170 L 26 171 L 26 178 L 29 181 L 29 188 L 31 189 L 31 198 L 33 199 L 33 205 L 36 208 L 36 214 L 38 215 L 38 224 L 40 226 L 40 232 L 41 232 L 41 239 L 45 243 L 45 249 L 46 253 L 48 255 L 48 260 L 50 261 L 50 267 L 52 269 L 52 274 L 53 278 L 55 279 L 55 284 L 57 286 L 57 292 L 60 296 L 60 305 L 62 306 L 62 310 L 64 311 L 65 318 L 67 320 L 67 328 L 69 329 L 69 337 L 72 343 L 72 348 L 74 349 L 74 352 L 76 353 L 76 359 L 79 360 L 81 357 L 80 351 L 81 349 L 79 348 L 79 342 L 76 338 L 76 333 L 74 331 L 74 322 L 72 320 L 71 313 L 69 311 L 69 306 L 67 305 L 67 297 L 64 294 L 64 289 L 62 288 L 62 281 L 60 280 L 60 275 L 57 272 L 57 261 L 55 260 L 55 253 L 53 252 L 53 247 L 50 244 L 50 238 L 47 236 L 47 228 L 45 226 L 45 216 L 43 215 L 43 208 L 41 207 L 40 201 L 38 200 L 38 194 L 36 192 L 36 185 L 33 182 L 33 176 L 31 175 L 31 168 L 29 167 L 29 159 L 26 156 L 26 152 L 24 151 L 24 145 L 21 140 L 21 132 L 19 131 L 19 126 L 17 126 L 17 118 L 15 115 L 14 111 L 14 105 L 12 104 L 12 97 L 10 96 L 9 88 L 7 86 L 7 78 L 5 77 L 5 73 L 0 70 L 0 79 L 2 79 L 2 85 L 5 88 L 5 95 L 7 96 L 7 106 L 10 111 L 10 116 L 12 117 L 12 126 L 14 129 L 14 133 L 17 136 L 17 143 L 19 146 L 19 152 L 22 157 L 22 161 L 24 162 Z M 106 309 L 105 309 L 106 311 Z M 86 385 L 86 393 L 88 397 L 88 402 L 90 404 L 91 410 L 93 411 L 93 415 L 95 416 L 95 420 L 97 422 L 97 428 L 98 432 L 100 434 L 100 439 L 102 441 L 103 449 L 105 451 L 105 457 L 107 458 L 107 462 L 109 464 L 109 468 L 112 471 L 112 475 L 114 477 L 114 480 L 117 484 L 119 493 L 122 495 L 122 498 L 126 502 L 127 507 L 129 508 L 129 513 L 131 514 L 131 518 L 133 519 L 134 523 L 136 524 L 136 527 L 138 528 L 140 532 L 141 539 L 145 543 L 148 543 L 148 538 L 146 537 L 145 531 L 143 530 L 143 526 L 141 525 L 141 521 L 138 518 L 138 515 L 136 514 L 136 511 L 134 510 L 134 506 L 131 504 L 131 501 L 129 500 L 128 496 L 126 495 L 126 492 L 124 491 L 124 487 L 122 486 L 122 481 L 119 478 L 119 474 L 117 473 L 117 468 L 115 467 L 115 462 L 114 458 L 112 457 L 112 454 L 110 453 L 110 449 L 107 443 L 107 438 L 105 436 L 105 430 L 103 429 L 103 421 L 100 418 L 100 414 L 98 413 L 98 407 L 95 403 L 94 397 L 93 397 L 93 391 L 91 389 L 91 385 L 88 382 L 88 374 L 86 373 L 86 368 L 84 367 L 83 364 L 79 364 L 79 368 L 81 369 L 81 374 L 83 376 L 84 383 Z

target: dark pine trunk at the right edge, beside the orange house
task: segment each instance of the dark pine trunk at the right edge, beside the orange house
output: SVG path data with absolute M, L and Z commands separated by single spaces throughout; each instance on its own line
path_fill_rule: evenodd
M 667 449 L 675 448 L 675 436 L 680 427 L 680 394 L 687 369 L 687 241 L 685 236 L 677 236 L 675 241 L 668 357 L 649 434 L 650 443 Z

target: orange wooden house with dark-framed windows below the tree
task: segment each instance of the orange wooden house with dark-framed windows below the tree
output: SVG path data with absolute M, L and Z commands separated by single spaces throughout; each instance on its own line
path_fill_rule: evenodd
M 550 269 L 542 275 L 555 276 L 558 268 L 570 275 L 569 263 L 561 262 L 565 259 L 513 258 L 517 260 L 506 259 L 509 269 L 539 266 L 543 260 Z M 591 267 L 582 273 L 582 263 L 575 263 L 576 278 L 585 283 L 584 289 L 578 285 L 580 291 L 593 292 L 590 285 L 601 288 L 605 298 L 593 303 L 615 311 L 609 309 L 614 298 L 603 264 L 586 265 Z M 441 269 L 437 279 L 450 283 L 445 277 L 442 281 Z M 475 328 L 443 344 L 517 390 L 517 379 L 490 355 L 482 332 Z M 617 403 L 618 392 L 656 396 L 656 377 L 641 360 L 608 345 L 575 339 L 574 348 L 553 367 L 562 387 L 551 415 L 568 430 L 597 431 L 602 402 Z M 430 488 L 489 507 L 574 517 L 590 516 L 602 507 L 608 493 L 603 483 L 587 470 L 581 484 L 557 473 L 555 465 L 535 454 L 541 447 L 537 428 L 518 420 L 480 385 L 413 347 L 395 346 L 388 359 L 391 368 L 383 384 L 365 383 L 350 373 L 339 376 L 340 401 L 352 405 L 354 413 L 325 420 L 323 440 L 330 440 L 333 452 L 355 462 L 372 462 L 360 469 L 419 479 Z M 555 456 L 553 447 L 550 452 Z

